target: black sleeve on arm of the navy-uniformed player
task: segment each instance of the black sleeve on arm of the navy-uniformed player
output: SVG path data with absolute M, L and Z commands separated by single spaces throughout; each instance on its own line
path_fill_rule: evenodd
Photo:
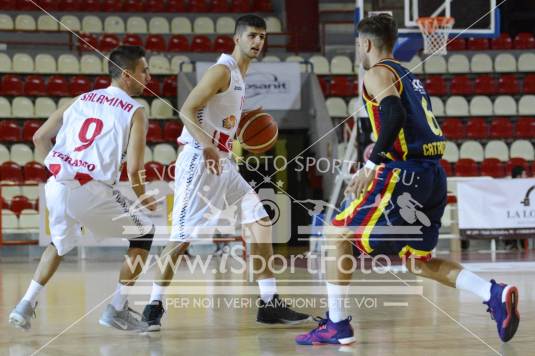
M 390 150 L 407 119 L 401 98 L 395 95 L 387 96 L 381 100 L 379 115 L 381 116 L 381 132 L 370 155 L 370 161 L 375 164 L 380 163 L 386 152 Z

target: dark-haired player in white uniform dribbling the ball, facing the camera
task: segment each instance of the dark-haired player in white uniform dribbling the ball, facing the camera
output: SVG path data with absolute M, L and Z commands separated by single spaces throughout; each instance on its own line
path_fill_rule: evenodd
M 239 174 L 230 158 L 231 144 L 245 100 L 244 77 L 252 59 L 262 51 L 266 38 L 265 21 L 254 15 L 240 17 L 234 33 L 231 55 L 222 54 L 191 91 L 181 109 L 185 128 L 178 141 L 184 145 L 176 162 L 173 229 L 161 258 L 176 263 L 189 242 L 202 235 L 202 228 L 217 225 L 207 215 L 212 209 L 223 211 L 228 204 L 237 207 L 237 219 L 254 241 L 251 255 L 264 261 L 273 254 L 268 214 L 254 190 Z M 217 220 L 217 219 L 216 219 Z M 205 232 L 206 234 L 206 232 Z M 210 236 L 208 236 L 210 237 Z M 277 296 L 273 273 L 254 260 L 260 287 L 257 321 L 261 323 L 299 323 L 308 315 L 289 309 Z M 164 289 L 173 278 L 172 266 L 155 276 L 150 303 L 143 311 L 149 330 L 160 330 Z

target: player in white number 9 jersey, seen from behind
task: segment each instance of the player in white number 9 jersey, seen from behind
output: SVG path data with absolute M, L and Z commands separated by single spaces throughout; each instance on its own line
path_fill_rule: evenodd
M 150 80 L 144 49 L 118 47 L 110 54 L 109 68 L 110 87 L 75 98 L 54 112 L 33 137 L 36 153 L 46 156 L 45 165 L 53 174 L 45 185 L 52 243 L 43 252 L 26 294 L 9 315 L 10 323 L 17 327 L 30 328 L 38 295 L 62 257 L 76 246 L 81 225 L 97 238 L 127 238 L 127 259 L 145 261 L 148 256 L 154 226 L 139 211 L 139 205 L 156 209 L 156 201 L 145 195 L 140 179 L 148 122 L 143 107 L 132 99 Z M 137 211 L 114 188 L 125 157 L 139 201 Z M 125 227 L 135 231 L 125 234 Z M 132 271 L 125 260 L 100 324 L 121 330 L 145 329 L 146 323 L 133 315 L 126 300 L 128 287 L 140 272 L 141 268 Z

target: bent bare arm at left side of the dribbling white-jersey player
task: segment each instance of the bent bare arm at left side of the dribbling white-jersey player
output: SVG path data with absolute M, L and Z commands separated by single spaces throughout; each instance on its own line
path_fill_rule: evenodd
M 206 106 L 208 101 L 218 92 L 225 91 L 230 83 L 230 72 L 223 65 L 216 65 L 208 69 L 199 83 L 189 93 L 182 109 L 180 117 L 188 129 L 188 132 L 203 147 L 204 165 L 212 173 L 221 173 L 219 151 L 212 143 L 211 131 L 205 132 L 197 118 L 197 113 Z

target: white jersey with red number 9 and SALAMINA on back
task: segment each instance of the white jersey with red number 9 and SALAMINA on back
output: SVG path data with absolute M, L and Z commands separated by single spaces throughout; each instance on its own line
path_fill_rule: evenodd
M 117 87 L 82 94 L 63 114 L 45 165 L 56 181 L 115 184 L 126 157 L 131 120 L 141 105 Z

